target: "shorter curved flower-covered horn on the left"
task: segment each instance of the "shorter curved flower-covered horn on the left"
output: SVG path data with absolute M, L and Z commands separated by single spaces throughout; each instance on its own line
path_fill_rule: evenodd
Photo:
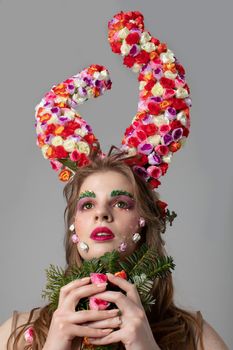
M 76 108 L 108 89 L 111 89 L 108 70 L 91 65 L 53 86 L 36 106 L 37 145 L 52 168 L 60 172 L 60 180 L 67 181 L 78 167 L 87 164 L 92 151 L 104 156 L 91 126 Z

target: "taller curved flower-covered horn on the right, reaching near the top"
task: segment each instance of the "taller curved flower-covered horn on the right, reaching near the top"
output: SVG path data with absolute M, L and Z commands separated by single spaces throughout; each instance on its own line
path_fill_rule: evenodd
M 140 12 L 116 14 L 108 29 L 112 51 L 124 57 L 124 65 L 138 73 L 139 81 L 138 110 L 121 149 L 134 156 L 128 163 L 155 188 L 189 134 L 185 70 L 167 45 L 144 29 Z

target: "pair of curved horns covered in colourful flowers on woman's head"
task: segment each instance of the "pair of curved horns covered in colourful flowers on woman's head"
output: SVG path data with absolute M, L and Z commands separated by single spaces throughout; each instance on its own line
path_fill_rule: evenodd
M 174 53 L 144 29 L 143 15 L 120 12 L 108 23 L 108 41 L 123 64 L 138 73 L 139 102 L 120 151 L 125 162 L 152 188 L 160 185 L 173 154 L 186 141 L 191 99 L 185 70 Z M 108 70 L 93 64 L 55 85 L 36 106 L 37 144 L 61 181 L 90 162 L 94 151 L 105 157 L 91 126 L 77 113 L 79 104 L 111 89 Z

